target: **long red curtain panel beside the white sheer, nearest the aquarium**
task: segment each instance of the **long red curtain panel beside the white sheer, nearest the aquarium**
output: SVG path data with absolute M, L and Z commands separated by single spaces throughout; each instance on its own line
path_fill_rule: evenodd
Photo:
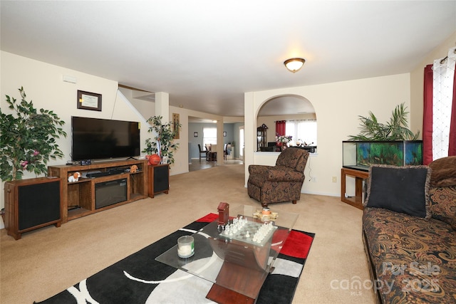
M 423 164 L 432 162 L 432 64 L 425 66 L 423 109 Z

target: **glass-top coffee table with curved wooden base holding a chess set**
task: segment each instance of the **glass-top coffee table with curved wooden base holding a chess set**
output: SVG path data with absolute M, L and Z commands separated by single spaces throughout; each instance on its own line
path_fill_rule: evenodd
M 195 254 L 190 258 L 177 256 L 176 245 L 155 260 L 214 283 L 209 300 L 254 303 L 298 217 L 274 209 L 264 215 L 261 207 L 237 206 L 229 210 L 227 226 L 220 226 L 217 219 L 192 234 Z

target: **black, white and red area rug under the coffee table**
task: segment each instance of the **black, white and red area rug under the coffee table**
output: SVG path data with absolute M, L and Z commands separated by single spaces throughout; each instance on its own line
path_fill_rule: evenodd
M 217 219 L 208 214 L 169 236 L 39 303 L 214 303 L 206 297 L 212 283 L 155 261 L 190 235 Z M 315 234 L 293 230 L 267 276 L 257 303 L 291 303 Z M 207 253 L 210 258 L 212 253 Z M 35 302 L 38 303 L 38 302 Z

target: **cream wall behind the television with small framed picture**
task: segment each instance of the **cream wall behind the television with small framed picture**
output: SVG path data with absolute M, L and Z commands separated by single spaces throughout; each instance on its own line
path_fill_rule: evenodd
M 135 108 L 131 107 L 128 100 L 125 102 L 122 96 L 118 96 L 118 83 L 114 80 L 43 63 L 4 51 L 0 53 L 0 61 L 0 106 L 2 112 L 9 112 L 5 95 L 20 100 L 18 88 L 23 86 L 27 95 L 26 100 L 33 100 L 35 108 L 53 110 L 66 122 L 63 130 L 68 136 L 58 140 L 58 145 L 66 157 L 55 161 L 51 159 L 48 164 L 65 164 L 67 160 L 71 159 L 71 116 L 144 122 L 142 117 L 138 116 Z M 62 75 L 76 77 L 77 83 L 63 82 Z M 78 90 L 101 94 L 102 111 L 78 109 Z M 142 123 L 141 125 L 145 124 Z M 141 128 L 140 136 L 141 145 L 143 145 L 142 138 L 147 136 L 147 127 Z M 142 149 L 143 147 L 141 147 Z M 24 178 L 32 177 L 35 177 L 35 174 L 30 172 L 24 174 Z M 1 184 L 0 208 L 4 208 L 4 182 Z

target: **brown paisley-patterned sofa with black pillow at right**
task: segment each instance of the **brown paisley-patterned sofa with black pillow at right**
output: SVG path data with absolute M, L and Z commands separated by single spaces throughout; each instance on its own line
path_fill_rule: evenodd
M 456 303 L 456 157 L 370 171 L 363 241 L 378 303 Z M 400 206 L 410 190 L 420 195 Z

